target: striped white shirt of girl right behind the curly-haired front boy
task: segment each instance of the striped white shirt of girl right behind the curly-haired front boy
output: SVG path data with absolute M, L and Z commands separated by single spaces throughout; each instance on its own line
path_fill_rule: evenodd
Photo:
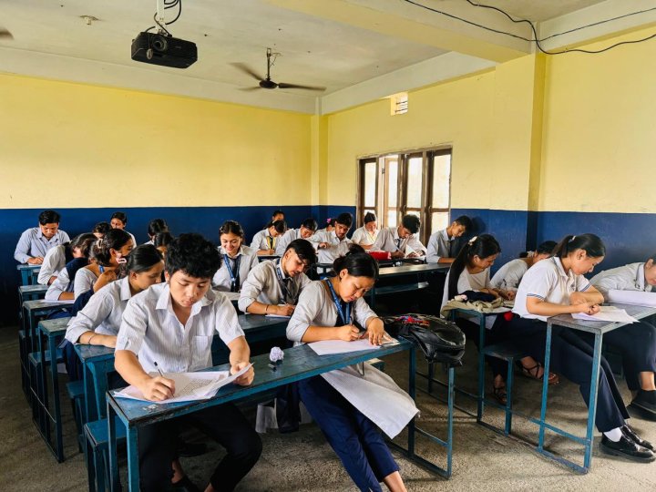
M 109 282 L 93 294 L 84 309 L 68 322 L 68 342 L 77 343 L 79 337 L 86 332 L 116 335 L 123 311 L 131 297 L 128 277 Z

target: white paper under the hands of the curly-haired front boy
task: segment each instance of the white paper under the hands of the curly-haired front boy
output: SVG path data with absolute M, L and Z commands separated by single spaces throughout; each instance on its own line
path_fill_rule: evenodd
M 172 398 L 161 402 L 152 402 L 157 404 L 169 404 L 179 402 L 193 402 L 197 400 L 207 400 L 216 395 L 219 388 L 226 384 L 232 383 L 241 374 L 245 374 L 252 364 L 247 365 L 237 374 L 228 371 L 207 371 L 199 373 L 164 373 L 164 377 L 172 379 L 175 382 L 176 392 Z M 157 376 L 158 373 L 150 373 L 151 376 Z M 128 386 L 115 394 L 119 398 L 130 398 L 133 400 L 149 401 L 135 386 Z

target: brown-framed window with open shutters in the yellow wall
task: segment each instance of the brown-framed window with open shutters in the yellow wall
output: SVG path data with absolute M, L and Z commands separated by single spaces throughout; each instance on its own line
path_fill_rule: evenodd
M 373 156 L 359 161 L 358 224 L 375 212 L 380 227 L 396 227 L 407 214 L 419 217 L 419 236 L 449 224 L 451 149 L 427 149 Z

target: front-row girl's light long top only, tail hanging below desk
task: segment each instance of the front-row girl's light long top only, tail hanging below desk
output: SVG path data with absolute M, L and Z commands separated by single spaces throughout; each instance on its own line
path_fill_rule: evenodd
M 353 303 L 352 313 L 363 328 L 368 319 L 376 317 L 362 297 Z M 287 338 L 294 345 L 300 345 L 309 326 L 331 328 L 336 323 L 337 307 L 333 296 L 323 282 L 310 282 L 301 292 L 292 319 L 287 324 Z M 394 437 L 417 414 L 415 402 L 387 374 L 369 364 L 363 364 L 362 370 L 364 375 L 358 368 L 349 366 L 321 376 L 387 436 Z M 333 429 L 325 431 L 331 433 Z

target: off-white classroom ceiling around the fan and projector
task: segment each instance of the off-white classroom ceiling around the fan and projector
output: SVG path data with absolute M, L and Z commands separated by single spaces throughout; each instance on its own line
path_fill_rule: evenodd
M 486 3 L 541 22 L 615 1 Z M 514 25 L 466 0 L 416 2 L 530 36 L 528 26 Z M 323 98 L 333 106 L 351 104 L 348 97 L 343 103 L 335 101 L 351 87 L 372 81 L 379 82 L 372 94 L 380 92 L 380 97 L 398 87 L 411 89 L 462 75 L 453 69 L 440 74 L 440 64 L 454 66 L 455 56 L 462 70 L 475 71 L 532 49 L 527 42 L 403 0 L 182 0 L 182 7 L 169 30 L 198 45 L 199 61 L 186 70 L 130 59 L 131 40 L 153 25 L 156 0 L 0 0 L 0 30 L 13 35 L 0 37 L 0 71 L 313 113 L 321 112 Z M 168 19 L 174 16 L 170 14 Z M 97 20 L 87 21 L 84 15 Z M 323 86 L 325 93 L 317 97 L 293 89 L 241 91 L 255 83 L 231 64 L 246 64 L 263 75 L 267 47 L 281 54 L 272 67 L 274 80 Z M 390 91 L 385 93 L 387 86 Z

